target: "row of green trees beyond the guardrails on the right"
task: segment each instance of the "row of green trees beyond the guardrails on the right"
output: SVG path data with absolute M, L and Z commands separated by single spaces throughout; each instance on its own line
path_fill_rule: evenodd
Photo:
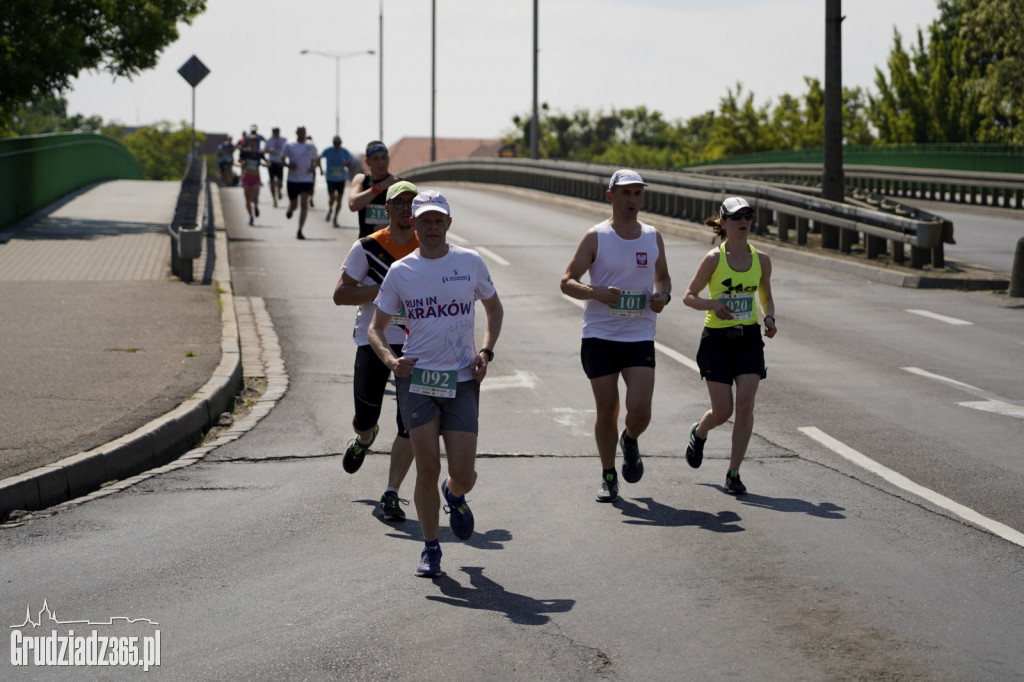
M 874 87 L 843 89 L 847 144 L 1024 144 L 1024 2 L 938 0 L 939 17 L 908 48 L 898 32 Z M 759 102 L 741 83 L 717 110 L 666 121 L 644 106 L 571 114 L 544 106 L 540 155 L 611 164 L 676 167 L 758 152 L 822 146 L 824 89 Z M 513 119 L 506 144 L 525 156 L 529 118 Z

